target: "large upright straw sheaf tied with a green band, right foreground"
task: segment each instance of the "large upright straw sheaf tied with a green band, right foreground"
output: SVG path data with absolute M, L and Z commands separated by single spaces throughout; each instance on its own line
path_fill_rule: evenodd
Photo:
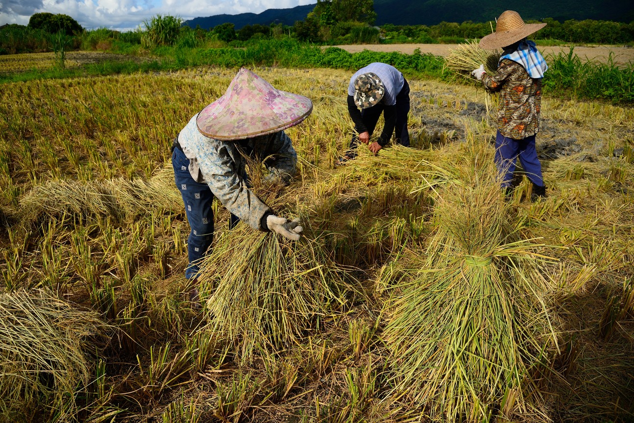
M 393 282 L 384 339 L 399 372 L 395 395 L 433 419 L 538 410 L 534 378 L 555 341 L 548 258 L 522 239 L 493 160 L 483 162 L 491 165 L 437 189 L 432 236 L 412 259 L 420 270 Z

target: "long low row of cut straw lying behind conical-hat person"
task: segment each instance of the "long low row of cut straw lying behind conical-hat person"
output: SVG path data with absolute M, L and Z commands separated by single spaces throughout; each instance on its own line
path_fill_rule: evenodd
M 134 218 L 148 208 L 182 208 L 174 185 L 174 170 L 166 167 L 148 180 L 124 178 L 103 181 L 49 180 L 35 186 L 20 200 L 25 222 L 44 216 L 70 215 L 81 218 Z

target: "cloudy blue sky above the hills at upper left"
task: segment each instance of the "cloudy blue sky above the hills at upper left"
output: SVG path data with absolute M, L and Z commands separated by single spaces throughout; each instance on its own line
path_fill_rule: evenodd
M 174 15 L 184 19 L 227 13 L 260 13 L 316 3 L 316 0 L 0 0 L 0 25 L 26 25 L 34 13 L 64 13 L 82 27 L 119 30 L 137 28 L 154 15 Z

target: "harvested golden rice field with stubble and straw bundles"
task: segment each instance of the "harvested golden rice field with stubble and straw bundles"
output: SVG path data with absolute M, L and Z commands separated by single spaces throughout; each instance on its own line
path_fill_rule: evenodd
M 518 173 L 505 202 L 482 89 L 406 75 L 412 148 L 362 148 L 335 168 L 350 73 L 254 71 L 314 103 L 287 130 L 292 184 L 255 187 L 304 236 L 230 231 L 214 203 L 202 312 L 169 147 L 235 70 L 3 85 L 0 291 L 46 289 L 104 328 L 77 343 L 89 376 L 73 379 L 69 421 L 634 419 L 633 108 L 545 98 L 548 196 L 531 203 Z M 29 344 L 10 329 L 0 351 Z M 46 398 L 69 394 L 50 367 L 29 362 L 28 392 L 0 383 L 0 421 L 59 417 Z

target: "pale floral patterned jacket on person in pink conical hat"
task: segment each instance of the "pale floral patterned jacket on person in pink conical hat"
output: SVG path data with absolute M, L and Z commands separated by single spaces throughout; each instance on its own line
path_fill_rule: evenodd
M 211 192 L 231 213 L 258 230 L 271 208 L 247 187 L 247 157 L 266 158 L 267 179 L 288 183 L 295 174 L 297 153 L 284 131 L 238 141 L 219 141 L 198 132 L 195 115 L 178 134 L 183 153 L 190 159 L 194 180 L 209 185 Z

